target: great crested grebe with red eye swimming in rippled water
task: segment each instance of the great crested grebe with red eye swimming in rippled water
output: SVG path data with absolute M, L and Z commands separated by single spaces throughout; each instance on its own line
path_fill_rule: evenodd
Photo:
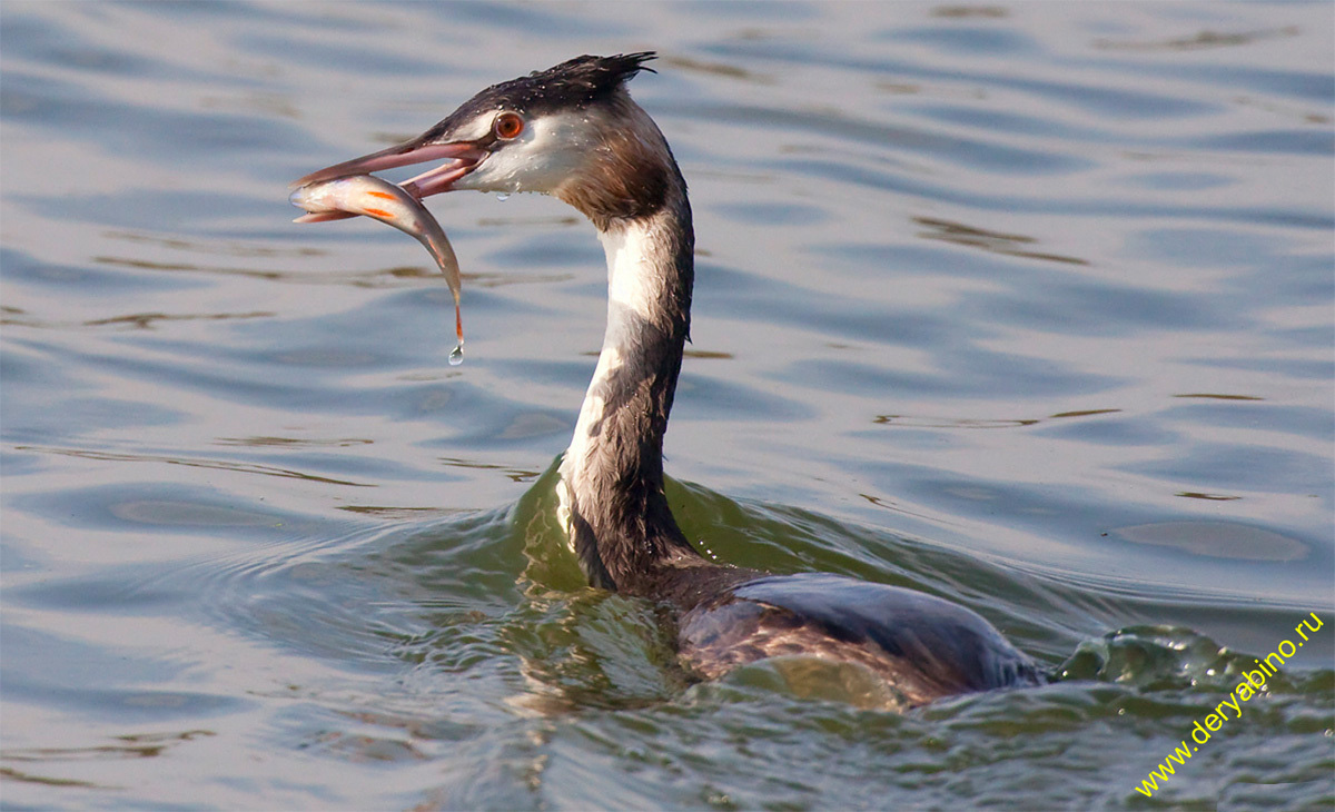
M 1043 682 L 969 609 L 841 576 L 716 564 L 677 526 L 662 442 L 690 327 L 696 238 L 686 180 L 626 91 L 653 57 L 581 56 L 489 87 L 421 136 L 298 184 L 445 159 L 403 188 L 542 192 L 593 222 L 607 255 L 607 331 L 561 462 L 562 513 L 590 584 L 673 610 L 688 669 L 714 678 L 790 654 L 854 662 L 908 706 Z

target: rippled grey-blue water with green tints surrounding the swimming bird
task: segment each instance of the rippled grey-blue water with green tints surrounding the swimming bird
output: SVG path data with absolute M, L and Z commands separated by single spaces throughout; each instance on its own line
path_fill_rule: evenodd
M 5 3 L 3 804 L 1328 808 L 1331 16 Z M 288 222 L 291 179 L 642 48 L 698 232 L 688 533 L 949 597 L 1067 680 L 689 684 L 555 525 L 589 224 L 433 199 L 450 366 L 419 246 Z

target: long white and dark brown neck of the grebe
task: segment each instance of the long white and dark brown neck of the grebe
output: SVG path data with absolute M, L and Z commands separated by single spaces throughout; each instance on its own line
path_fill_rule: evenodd
M 602 223 L 607 331 L 561 463 L 569 532 L 595 586 L 646 594 L 663 566 L 700 560 L 663 495 L 662 443 L 690 329 L 694 234 L 673 172 L 653 214 Z

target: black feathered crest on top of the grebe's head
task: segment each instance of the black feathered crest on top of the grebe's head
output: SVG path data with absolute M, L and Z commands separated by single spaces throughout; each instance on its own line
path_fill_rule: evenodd
M 554 110 L 582 110 L 617 92 L 639 71 L 653 71 L 645 63 L 653 51 L 615 56 L 577 56 L 546 71 L 493 84 L 465 102 L 459 110 L 431 128 L 430 135 L 446 135 L 455 126 L 491 110 L 513 110 L 525 115 Z

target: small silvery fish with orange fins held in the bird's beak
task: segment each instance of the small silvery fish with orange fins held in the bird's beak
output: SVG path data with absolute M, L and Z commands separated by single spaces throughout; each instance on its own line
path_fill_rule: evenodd
M 445 235 L 441 223 L 421 200 L 403 187 L 375 175 L 348 175 L 308 183 L 294 190 L 288 200 L 292 206 L 306 210 L 306 214 L 292 220 L 294 223 L 322 223 L 362 215 L 417 238 L 435 259 L 450 286 L 450 292 L 454 294 L 454 334 L 459 343 L 450 353 L 450 363 L 463 362 L 459 259 L 454 255 L 454 246 L 450 244 L 450 238 Z

